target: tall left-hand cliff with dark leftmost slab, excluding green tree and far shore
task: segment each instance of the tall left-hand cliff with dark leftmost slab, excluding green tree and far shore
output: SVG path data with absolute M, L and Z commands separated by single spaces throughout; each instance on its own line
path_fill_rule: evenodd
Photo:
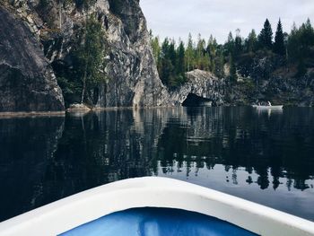
M 73 76 L 73 54 L 80 47 L 78 37 L 87 15 L 101 23 L 107 42 L 106 82 L 93 92 L 93 106 L 169 104 L 139 1 L 99 0 L 88 9 L 84 2 L 88 1 L 0 0 L 0 110 L 64 109 L 56 76 Z M 68 103 L 73 102 L 79 102 L 79 96 L 73 94 Z

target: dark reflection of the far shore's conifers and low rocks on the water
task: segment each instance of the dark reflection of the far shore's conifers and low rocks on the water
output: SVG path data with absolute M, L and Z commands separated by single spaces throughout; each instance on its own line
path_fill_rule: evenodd
M 301 114 L 300 114 L 301 113 Z M 158 144 L 161 166 L 178 162 L 178 168 L 214 168 L 223 164 L 232 168 L 232 181 L 237 184 L 237 169 L 257 173 L 257 184 L 278 188 L 280 178 L 290 189 L 305 189 L 314 175 L 314 113 L 310 109 L 283 113 L 254 113 L 250 108 L 188 109 L 181 123 L 169 122 Z M 167 169 L 163 169 L 167 170 Z M 269 177 L 272 176 L 272 182 Z

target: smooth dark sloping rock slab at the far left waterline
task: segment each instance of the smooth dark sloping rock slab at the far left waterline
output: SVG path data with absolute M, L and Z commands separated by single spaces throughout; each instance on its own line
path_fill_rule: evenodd
M 38 39 L 2 6 L 0 22 L 0 112 L 65 109 Z

